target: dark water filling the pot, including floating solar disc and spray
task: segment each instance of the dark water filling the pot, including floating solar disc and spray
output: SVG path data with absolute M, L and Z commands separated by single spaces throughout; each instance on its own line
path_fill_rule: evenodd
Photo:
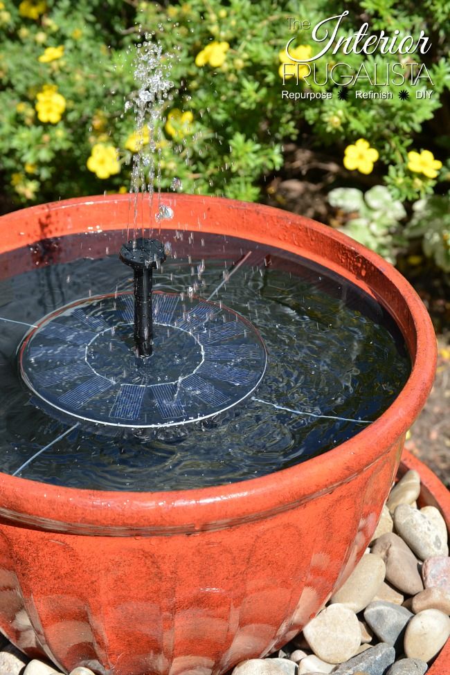
M 151 39 L 138 45 L 128 226 L 0 256 L 10 474 L 137 491 L 262 476 L 364 429 L 408 377 L 395 323 L 350 282 L 286 251 L 163 228 L 169 66 Z

